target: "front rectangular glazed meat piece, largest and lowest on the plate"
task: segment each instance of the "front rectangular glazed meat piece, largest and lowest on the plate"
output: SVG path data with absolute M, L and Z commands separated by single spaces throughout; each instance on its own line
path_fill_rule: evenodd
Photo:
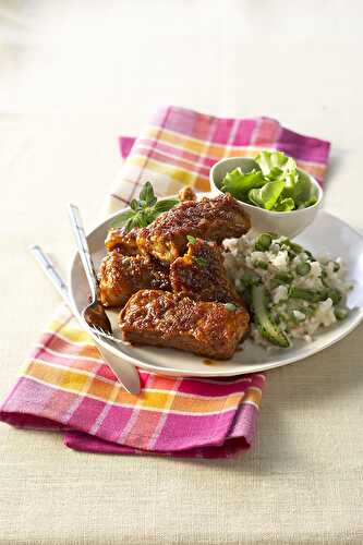
M 249 319 L 244 308 L 230 311 L 222 303 L 141 290 L 128 301 L 119 322 L 125 341 L 228 360 L 247 330 Z

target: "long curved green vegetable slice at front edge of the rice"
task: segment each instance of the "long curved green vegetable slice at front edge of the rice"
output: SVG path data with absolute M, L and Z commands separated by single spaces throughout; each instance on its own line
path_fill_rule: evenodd
M 255 324 L 258 331 L 273 344 L 281 348 L 289 348 L 290 341 L 287 336 L 279 330 L 267 308 L 267 291 L 263 286 L 252 287 L 252 308 Z

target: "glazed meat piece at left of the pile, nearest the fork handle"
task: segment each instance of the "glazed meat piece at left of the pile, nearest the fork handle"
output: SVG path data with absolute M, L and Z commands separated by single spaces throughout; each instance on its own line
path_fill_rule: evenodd
M 140 289 L 170 289 L 169 270 L 149 256 L 108 253 L 99 274 L 99 299 L 105 306 L 123 306 Z

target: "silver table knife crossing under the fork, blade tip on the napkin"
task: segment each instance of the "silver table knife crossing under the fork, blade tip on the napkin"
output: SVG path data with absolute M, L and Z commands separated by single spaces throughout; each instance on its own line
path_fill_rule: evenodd
M 61 295 L 63 299 L 64 303 L 68 305 L 70 308 L 71 313 L 75 316 L 78 317 L 78 314 L 76 310 L 74 308 L 72 299 L 70 296 L 69 289 L 63 281 L 62 277 L 56 269 L 55 265 L 49 259 L 47 254 L 41 250 L 40 246 L 37 244 L 34 246 L 31 246 L 31 252 L 33 253 L 34 257 L 36 258 L 37 263 L 40 265 L 40 268 L 47 275 L 49 278 L 50 282 L 53 284 L 58 293 Z M 80 319 L 80 318 L 78 318 Z M 133 395 L 138 395 L 141 391 L 141 384 L 140 384 L 140 376 L 137 373 L 137 370 L 134 365 L 132 365 L 129 362 L 122 361 L 119 356 L 116 356 L 111 352 L 107 351 L 104 347 L 101 347 L 98 342 L 97 339 L 100 337 L 106 337 L 108 339 L 108 342 L 112 343 L 114 341 L 121 342 L 119 339 L 116 339 L 114 337 L 111 337 L 109 335 L 104 335 L 100 331 L 96 330 L 94 327 L 88 326 L 84 320 L 80 320 L 81 326 L 88 331 L 95 341 L 95 344 L 97 349 L 99 350 L 105 363 L 107 363 L 116 376 L 118 377 L 119 382 L 122 384 L 125 390 L 128 390 L 130 393 Z

